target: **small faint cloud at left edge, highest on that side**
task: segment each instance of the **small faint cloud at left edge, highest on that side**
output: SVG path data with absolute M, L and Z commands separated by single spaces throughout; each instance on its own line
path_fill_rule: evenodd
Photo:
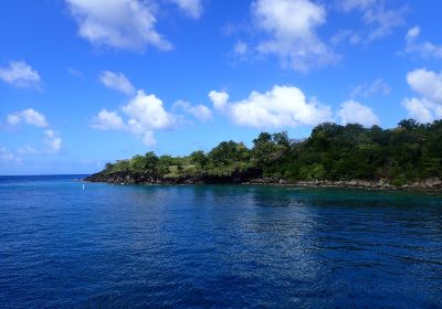
M 0 67 L 0 79 L 21 88 L 41 88 L 39 73 L 23 61 L 11 61 L 9 66 Z

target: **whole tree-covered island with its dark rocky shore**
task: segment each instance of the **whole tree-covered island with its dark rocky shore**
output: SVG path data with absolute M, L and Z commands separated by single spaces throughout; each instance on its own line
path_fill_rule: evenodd
M 116 184 L 281 184 L 442 190 L 442 120 L 407 119 L 391 129 L 332 122 L 306 139 L 262 132 L 186 157 L 154 152 L 107 163 L 91 182 Z

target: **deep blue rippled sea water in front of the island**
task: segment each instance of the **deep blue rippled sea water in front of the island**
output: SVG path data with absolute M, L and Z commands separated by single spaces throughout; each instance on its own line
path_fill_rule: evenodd
M 441 308 L 442 198 L 0 178 L 0 308 Z

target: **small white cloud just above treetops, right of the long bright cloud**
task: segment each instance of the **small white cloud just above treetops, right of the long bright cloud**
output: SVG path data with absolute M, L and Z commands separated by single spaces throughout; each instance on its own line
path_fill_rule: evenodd
M 365 127 L 379 125 L 379 117 L 371 110 L 370 107 L 362 105 L 356 100 L 347 100 L 340 105 L 338 116 L 343 125 L 359 124 Z

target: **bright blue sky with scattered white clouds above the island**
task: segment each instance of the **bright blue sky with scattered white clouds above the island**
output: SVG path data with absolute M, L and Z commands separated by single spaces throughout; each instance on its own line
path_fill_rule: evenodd
M 0 174 L 442 118 L 442 1 L 2 0 Z

